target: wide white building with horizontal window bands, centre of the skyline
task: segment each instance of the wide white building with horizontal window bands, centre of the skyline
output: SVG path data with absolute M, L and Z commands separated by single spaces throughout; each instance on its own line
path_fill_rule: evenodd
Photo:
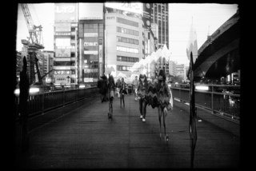
M 142 4 L 111 5 L 106 3 L 105 65 L 114 68 L 114 77 L 130 77 L 130 67 L 145 57 Z

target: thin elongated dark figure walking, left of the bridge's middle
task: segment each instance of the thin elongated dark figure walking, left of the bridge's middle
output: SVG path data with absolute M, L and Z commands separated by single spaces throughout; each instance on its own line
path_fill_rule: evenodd
M 113 117 L 114 88 L 115 88 L 114 78 L 110 74 L 109 75 L 109 79 L 108 79 L 108 97 L 109 97 L 109 113 L 108 113 L 108 117 L 109 118 Z

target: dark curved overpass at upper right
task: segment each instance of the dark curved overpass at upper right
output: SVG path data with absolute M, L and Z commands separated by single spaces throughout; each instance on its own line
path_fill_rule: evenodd
M 222 78 L 240 70 L 239 11 L 210 35 L 198 50 L 194 77 Z

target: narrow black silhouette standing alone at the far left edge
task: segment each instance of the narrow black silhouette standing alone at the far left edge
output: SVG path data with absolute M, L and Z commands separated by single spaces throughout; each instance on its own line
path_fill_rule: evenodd
M 20 124 L 21 124 L 21 133 L 22 133 L 22 151 L 25 151 L 28 147 L 28 131 L 27 131 L 27 120 L 28 120 L 28 97 L 30 92 L 30 80 L 26 73 L 26 57 L 23 58 L 23 67 L 20 72 L 20 82 L 19 82 L 19 104 L 18 109 L 20 113 Z

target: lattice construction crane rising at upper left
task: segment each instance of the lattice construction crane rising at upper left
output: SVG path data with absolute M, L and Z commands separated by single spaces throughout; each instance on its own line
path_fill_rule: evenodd
M 22 39 L 22 44 L 27 46 L 28 61 L 30 61 L 30 85 L 42 85 L 42 77 L 38 68 L 38 50 L 44 49 L 42 45 L 42 26 L 35 26 L 32 20 L 29 7 L 26 3 L 21 3 L 22 11 L 26 19 L 26 26 L 30 37 L 28 40 Z

